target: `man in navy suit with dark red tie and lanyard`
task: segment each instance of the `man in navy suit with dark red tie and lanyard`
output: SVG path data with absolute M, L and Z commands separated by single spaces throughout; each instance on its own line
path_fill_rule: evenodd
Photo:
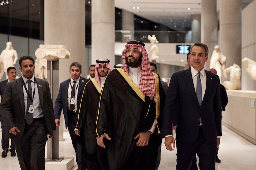
M 75 140 L 75 123 L 76 123 L 76 110 L 77 99 L 79 99 L 84 85 L 88 79 L 81 77 L 82 66 L 80 63 L 71 63 L 69 68 L 71 78 L 60 83 L 59 94 L 55 100 L 54 115 L 56 126 L 60 126 L 60 115 L 63 109 L 66 128 L 68 128 L 69 135 L 72 140 L 73 147 L 76 152 L 76 163 L 78 169 L 85 169 L 82 162 L 82 146 Z M 81 97 L 80 97 L 81 98 Z M 95 113 L 96 114 L 96 113 Z

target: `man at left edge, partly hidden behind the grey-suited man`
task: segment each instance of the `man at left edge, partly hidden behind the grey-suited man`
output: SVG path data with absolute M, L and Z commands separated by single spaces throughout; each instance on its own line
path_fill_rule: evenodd
M 8 67 L 6 74 L 8 76 L 8 79 L 0 82 L 1 98 L 3 98 L 3 96 L 4 96 L 4 89 L 5 89 L 6 83 L 9 81 L 15 80 L 15 78 L 16 78 L 17 72 L 16 72 L 15 67 Z M 2 101 L 1 101 L 1 103 L 2 103 Z M 9 149 L 9 138 L 6 137 L 6 125 L 5 125 L 1 111 L 0 111 L 0 122 L 1 122 L 1 128 L 2 128 L 2 149 L 4 150 L 2 152 L 1 156 L 2 156 L 2 158 L 5 158 L 5 157 L 7 157 L 7 152 Z M 12 140 L 11 140 L 10 152 L 11 152 L 11 156 L 16 156 L 15 146 L 14 146 Z

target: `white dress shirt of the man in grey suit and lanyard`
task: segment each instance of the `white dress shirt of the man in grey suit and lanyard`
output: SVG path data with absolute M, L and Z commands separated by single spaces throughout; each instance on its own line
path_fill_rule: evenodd
M 22 76 L 22 79 L 26 85 L 26 88 L 28 89 L 28 79 L 23 77 Z M 32 88 L 32 95 L 33 95 L 33 92 L 34 92 L 34 89 L 36 87 L 36 90 L 35 90 L 35 96 L 34 96 L 34 99 L 32 101 L 33 103 L 33 106 L 35 106 L 35 110 L 34 110 L 34 113 L 33 113 L 33 118 L 39 118 L 39 117 L 43 117 L 44 116 L 44 113 L 43 113 L 43 109 L 41 107 L 41 104 L 40 104 L 40 100 L 39 100 L 39 94 L 38 94 L 38 88 L 37 88 L 37 82 L 35 84 L 35 77 L 33 76 L 31 79 L 30 79 L 32 82 L 31 82 L 31 88 Z M 36 86 L 35 86 L 36 85 Z M 22 84 L 22 87 L 23 87 L 23 95 L 24 95 L 24 105 L 25 105 L 25 118 L 26 118 L 26 113 L 27 113 L 27 102 L 28 102 L 28 94 L 25 90 L 25 87 L 24 85 Z M 33 96 L 31 96 L 33 98 Z

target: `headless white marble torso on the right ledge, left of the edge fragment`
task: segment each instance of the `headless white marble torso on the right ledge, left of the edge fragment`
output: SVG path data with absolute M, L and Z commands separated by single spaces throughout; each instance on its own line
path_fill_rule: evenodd
M 233 64 L 232 66 L 226 68 L 223 71 L 223 75 L 225 78 L 228 78 L 229 81 L 224 81 L 222 85 L 228 90 L 239 90 L 241 89 L 241 68 L 237 64 Z

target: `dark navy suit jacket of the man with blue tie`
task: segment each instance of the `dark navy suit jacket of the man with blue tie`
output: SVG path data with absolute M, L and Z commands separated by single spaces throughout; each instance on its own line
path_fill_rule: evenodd
M 206 89 L 201 107 L 196 98 L 191 70 L 183 70 L 172 75 L 164 104 L 162 135 L 172 135 L 172 121 L 178 102 L 178 122 L 176 140 L 195 142 L 199 133 L 200 117 L 207 142 L 216 142 L 221 136 L 220 79 L 205 70 Z

